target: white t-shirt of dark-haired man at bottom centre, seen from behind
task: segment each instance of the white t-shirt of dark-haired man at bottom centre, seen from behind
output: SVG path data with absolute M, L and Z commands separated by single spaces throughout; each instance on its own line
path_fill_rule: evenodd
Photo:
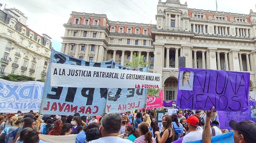
M 132 143 L 131 140 L 122 139 L 121 137 L 101 137 L 88 143 Z

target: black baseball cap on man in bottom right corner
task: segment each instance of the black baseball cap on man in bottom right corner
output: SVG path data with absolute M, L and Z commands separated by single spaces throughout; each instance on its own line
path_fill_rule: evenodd
M 237 122 L 231 120 L 229 123 L 232 129 L 237 130 L 240 134 L 244 136 L 245 140 L 250 142 L 248 143 L 256 143 L 256 123 L 250 120 L 244 120 L 241 122 Z

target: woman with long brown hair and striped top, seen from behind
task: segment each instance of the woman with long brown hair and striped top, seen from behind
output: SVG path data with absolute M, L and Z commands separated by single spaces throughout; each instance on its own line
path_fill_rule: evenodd
M 134 143 L 156 143 L 152 133 L 149 130 L 149 125 L 146 122 L 142 122 L 139 125 L 140 137 L 134 140 Z

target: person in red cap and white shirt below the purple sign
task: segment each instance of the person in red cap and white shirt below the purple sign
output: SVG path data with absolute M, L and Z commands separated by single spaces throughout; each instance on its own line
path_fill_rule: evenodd
M 198 126 L 199 119 L 194 115 L 189 116 L 186 120 L 186 130 L 189 131 L 189 133 L 183 137 L 182 143 L 202 140 L 203 131 L 197 129 Z

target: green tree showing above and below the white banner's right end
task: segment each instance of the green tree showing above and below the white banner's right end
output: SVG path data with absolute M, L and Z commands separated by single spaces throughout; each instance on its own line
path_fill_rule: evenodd
M 128 62 L 127 67 L 131 68 L 140 68 L 140 67 L 146 67 L 148 66 L 148 62 L 143 61 L 144 56 L 139 56 L 139 53 L 134 53 L 132 62 Z M 147 93 L 148 96 L 158 96 L 158 93 L 160 92 L 160 88 L 154 89 L 154 88 L 148 88 Z

